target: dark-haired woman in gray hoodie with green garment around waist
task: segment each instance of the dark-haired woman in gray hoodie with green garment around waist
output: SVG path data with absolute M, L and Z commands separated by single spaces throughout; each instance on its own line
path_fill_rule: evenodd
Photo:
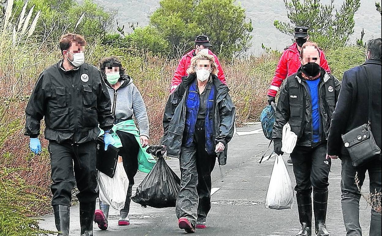
M 118 225 L 129 225 L 129 208 L 134 176 L 139 171 L 149 173 L 155 164 L 155 159 L 146 153 L 149 144 L 149 119 L 146 105 L 141 93 L 133 84 L 130 76 L 125 74 L 121 60 L 117 57 L 107 57 L 100 62 L 100 72 L 110 94 L 112 112 L 115 117 L 112 130 L 115 147 L 119 148 L 123 167 L 129 179 L 125 207 L 120 210 Z M 138 123 L 136 127 L 133 116 Z M 96 210 L 94 221 L 102 230 L 107 229 L 109 205 L 100 201 L 100 210 Z

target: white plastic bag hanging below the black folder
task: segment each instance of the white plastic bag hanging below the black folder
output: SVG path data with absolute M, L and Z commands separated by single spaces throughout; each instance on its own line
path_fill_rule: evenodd
M 113 178 L 98 171 L 99 200 L 121 210 L 125 206 L 126 194 L 129 187 L 123 163 L 118 162 Z

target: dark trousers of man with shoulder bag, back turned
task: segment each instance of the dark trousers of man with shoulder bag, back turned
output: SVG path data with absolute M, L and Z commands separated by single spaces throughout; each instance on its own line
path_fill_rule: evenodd
M 373 194 L 381 192 L 381 160 L 380 157 L 364 166 L 354 167 L 350 156 L 341 156 L 342 161 L 342 180 L 341 180 L 341 205 L 343 221 L 346 228 L 346 236 L 362 236 L 361 226 L 359 225 L 359 199 L 361 193 L 356 186 L 354 177 L 358 172 L 359 186 L 363 185 L 366 171 L 369 173 L 369 191 Z M 366 200 L 365 200 L 366 202 Z M 371 209 L 370 236 L 381 235 L 381 213 Z

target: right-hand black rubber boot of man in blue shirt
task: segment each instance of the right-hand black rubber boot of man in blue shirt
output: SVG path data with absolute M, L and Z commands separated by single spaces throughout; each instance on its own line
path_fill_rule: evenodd
M 328 208 L 328 192 L 313 192 L 314 225 L 318 236 L 329 236 L 326 229 L 326 210 Z

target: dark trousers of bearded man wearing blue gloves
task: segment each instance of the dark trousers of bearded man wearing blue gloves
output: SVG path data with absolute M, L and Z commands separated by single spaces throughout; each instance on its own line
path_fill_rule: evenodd
M 52 205 L 70 206 L 71 191 L 75 183 L 79 190 L 77 198 L 80 203 L 95 202 L 98 197 L 95 142 L 75 144 L 50 141 L 48 150 L 53 181 L 50 186 L 53 194 Z

